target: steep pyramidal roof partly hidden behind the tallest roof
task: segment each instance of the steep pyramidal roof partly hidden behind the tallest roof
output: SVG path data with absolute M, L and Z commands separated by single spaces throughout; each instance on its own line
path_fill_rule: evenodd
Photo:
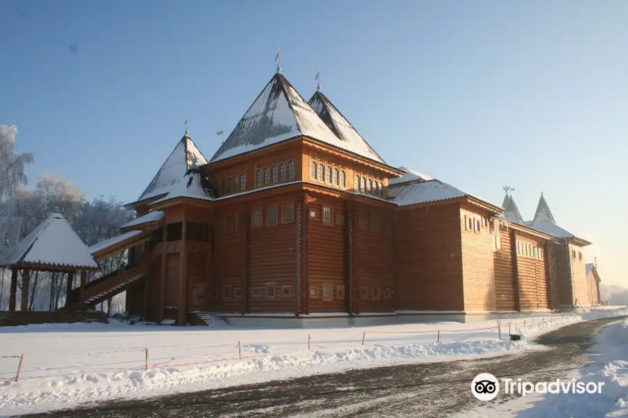
M 334 106 L 321 91 L 314 93 L 312 98 L 308 101 L 308 104 L 314 109 L 325 125 L 327 125 L 329 129 L 336 134 L 336 137 L 343 141 L 352 152 L 385 164 L 382 157 L 368 145 L 368 142 L 361 137 L 353 125 L 347 121 L 347 118 L 341 114 L 338 108 Z

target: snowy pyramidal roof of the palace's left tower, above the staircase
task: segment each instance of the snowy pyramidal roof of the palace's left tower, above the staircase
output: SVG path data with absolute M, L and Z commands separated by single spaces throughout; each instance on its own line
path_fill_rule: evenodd
M 181 181 L 192 164 L 207 164 L 207 159 L 186 132 L 137 201 L 170 192 L 172 187 Z

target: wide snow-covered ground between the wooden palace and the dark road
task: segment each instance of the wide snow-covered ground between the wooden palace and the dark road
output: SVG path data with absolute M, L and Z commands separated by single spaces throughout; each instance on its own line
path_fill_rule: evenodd
M 620 314 L 628 310 L 313 330 L 120 323 L 1 327 L 0 416 L 346 369 L 501 355 L 538 348 L 530 337 L 556 327 Z M 509 341 L 509 330 L 525 338 Z M 2 356 L 22 354 L 20 379 L 10 381 L 19 359 Z

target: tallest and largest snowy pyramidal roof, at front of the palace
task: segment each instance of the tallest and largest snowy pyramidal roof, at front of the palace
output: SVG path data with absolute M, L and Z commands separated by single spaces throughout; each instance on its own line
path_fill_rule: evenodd
M 363 157 L 375 158 L 353 142 L 338 138 L 292 84 L 277 72 L 214 157 L 211 157 L 211 162 L 301 136 L 317 139 Z

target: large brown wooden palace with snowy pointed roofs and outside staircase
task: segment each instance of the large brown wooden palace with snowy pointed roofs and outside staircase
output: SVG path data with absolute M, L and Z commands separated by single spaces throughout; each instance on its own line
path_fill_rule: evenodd
M 130 206 L 137 219 L 90 247 L 96 261 L 128 250 L 128 267 L 68 304 L 126 291 L 151 322 L 301 327 L 599 302 L 590 242 L 558 226 L 542 194 L 525 222 L 508 193 L 496 206 L 391 167 L 320 89 L 306 102 L 281 72 L 211 159 L 186 129 Z

